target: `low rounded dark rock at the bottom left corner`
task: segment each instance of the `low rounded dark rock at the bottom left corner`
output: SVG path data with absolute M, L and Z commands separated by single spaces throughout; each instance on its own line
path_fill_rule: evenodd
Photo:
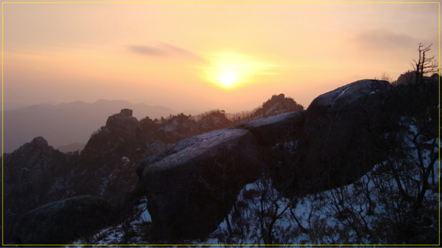
M 18 245 L 65 245 L 111 225 L 117 214 L 104 199 L 77 196 L 34 209 L 15 227 Z

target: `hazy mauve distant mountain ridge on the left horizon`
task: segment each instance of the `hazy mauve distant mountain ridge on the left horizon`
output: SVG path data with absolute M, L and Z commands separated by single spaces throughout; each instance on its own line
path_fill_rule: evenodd
M 12 152 L 36 136 L 44 136 L 54 147 L 86 144 L 90 134 L 105 125 L 103 120 L 124 108 L 134 110 L 139 119 L 177 114 L 175 110 L 160 105 L 119 100 L 30 105 L 3 113 L 3 152 Z

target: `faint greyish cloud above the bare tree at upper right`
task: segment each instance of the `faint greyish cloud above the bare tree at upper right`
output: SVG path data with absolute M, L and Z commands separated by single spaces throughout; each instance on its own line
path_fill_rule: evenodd
M 367 49 L 391 50 L 419 43 L 409 34 L 401 34 L 386 28 L 363 30 L 356 34 L 356 43 Z

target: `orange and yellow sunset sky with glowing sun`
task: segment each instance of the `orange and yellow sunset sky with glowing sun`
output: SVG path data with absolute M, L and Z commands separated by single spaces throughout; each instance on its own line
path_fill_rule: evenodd
M 176 111 L 307 107 L 397 79 L 419 42 L 439 61 L 438 3 L 3 3 L 3 104 L 99 99 Z

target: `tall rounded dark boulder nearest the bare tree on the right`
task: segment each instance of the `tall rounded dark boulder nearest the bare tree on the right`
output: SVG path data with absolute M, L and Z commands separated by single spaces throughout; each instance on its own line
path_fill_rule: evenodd
M 318 96 L 298 121 L 296 149 L 276 175 L 292 193 L 306 194 L 354 182 L 382 161 L 388 114 L 387 81 L 361 80 Z

